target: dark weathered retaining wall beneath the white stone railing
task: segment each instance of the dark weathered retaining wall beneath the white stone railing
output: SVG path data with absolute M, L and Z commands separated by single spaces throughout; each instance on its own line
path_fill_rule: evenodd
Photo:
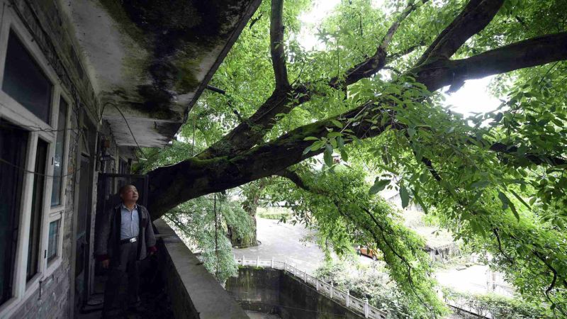
M 226 290 L 245 310 L 277 313 L 283 319 L 361 318 L 279 269 L 241 267 Z

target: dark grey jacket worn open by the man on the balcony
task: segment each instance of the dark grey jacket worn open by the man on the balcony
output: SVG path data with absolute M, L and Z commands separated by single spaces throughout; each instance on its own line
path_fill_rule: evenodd
M 108 211 L 101 220 L 99 229 L 96 230 L 98 240 L 96 242 L 96 259 L 103 261 L 112 259 L 115 253 L 118 254 L 120 247 L 120 225 L 122 224 L 122 214 L 120 208 L 122 203 Z M 147 208 L 137 205 L 137 216 L 140 222 L 140 232 L 137 235 L 137 259 L 142 260 L 147 257 L 147 252 L 155 252 L 155 235 L 150 220 L 150 213 Z

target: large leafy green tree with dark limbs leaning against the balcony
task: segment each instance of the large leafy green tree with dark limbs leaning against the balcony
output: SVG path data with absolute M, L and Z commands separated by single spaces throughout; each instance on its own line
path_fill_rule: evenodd
M 441 315 L 422 242 L 376 195 L 393 189 L 565 316 L 567 1 L 342 1 L 305 50 L 309 8 L 262 3 L 181 142 L 145 164 L 152 216 L 278 177 L 274 197 L 336 250 L 374 242 L 416 316 Z M 439 91 L 490 75 L 497 110 L 444 108 Z

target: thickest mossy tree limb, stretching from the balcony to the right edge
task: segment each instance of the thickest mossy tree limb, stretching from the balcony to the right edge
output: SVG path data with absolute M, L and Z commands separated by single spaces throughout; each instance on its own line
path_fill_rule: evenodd
M 556 60 L 567 60 L 567 33 L 546 35 L 507 45 L 500 49 L 491 50 L 475 57 L 449 62 L 443 68 L 429 66 L 417 74 L 417 81 L 425 84 L 430 90 L 436 90 L 451 84 L 457 79 L 468 79 L 507 72 L 515 68 L 529 67 Z M 509 57 L 511 61 L 505 59 Z M 471 62 L 472 61 L 472 62 Z M 454 67 L 454 65 L 460 67 Z M 462 67 L 466 65 L 467 67 Z M 452 67 L 451 67 L 452 66 Z M 455 74 L 455 77 L 452 75 Z M 310 136 L 322 138 L 326 136 L 327 128 L 335 125 L 332 120 L 343 125 L 356 123 L 354 135 L 357 138 L 371 138 L 382 133 L 385 127 L 373 125 L 364 118 L 374 118 L 380 123 L 385 112 L 378 107 L 378 101 L 367 103 L 354 108 L 347 113 L 334 118 L 304 125 L 271 142 L 245 150 L 237 155 L 217 157 L 213 159 L 191 158 L 184 162 L 161 167 L 150 172 L 150 211 L 155 218 L 161 216 L 178 203 L 188 201 L 204 194 L 230 189 L 246 184 L 262 177 L 268 177 L 276 172 L 301 162 L 303 159 L 319 154 L 322 150 L 303 154 L 303 150 L 312 142 L 304 139 Z M 388 113 L 388 118 L 393 118 Z M 403 129 L 399 123 L 388 123 L 393 129 Z M 348 141 L 347 141 L 348 142 Z M 507 147 L 510 150 L 510 147 Z M 175 182 L 172 182 L 175 181 Z

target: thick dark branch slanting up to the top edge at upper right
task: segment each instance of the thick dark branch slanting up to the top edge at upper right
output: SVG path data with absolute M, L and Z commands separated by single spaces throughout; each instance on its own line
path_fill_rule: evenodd
M 435 38 L 417 62 L 447 60 L 456 50 L 476 33 L 481 32 L 492 21 L 504 0 L 471 0 L 463 11 Z

